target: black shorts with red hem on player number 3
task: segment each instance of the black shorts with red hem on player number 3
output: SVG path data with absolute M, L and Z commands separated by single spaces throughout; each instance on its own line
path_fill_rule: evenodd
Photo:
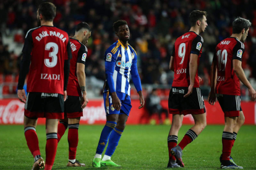
M 28 92 L 25 103 L 25 116 L 28 118 L 64 118 L 64 98 L 62 94 Z

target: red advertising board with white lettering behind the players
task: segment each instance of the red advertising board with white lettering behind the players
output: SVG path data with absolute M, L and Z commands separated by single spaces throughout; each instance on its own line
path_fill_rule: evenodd
M 164 108 L 168 108 L 168 101 L 161 102 Z M 128 118 L 127 124 L 146 124 L 149 116 L 147 111 L 139 109 L 139 100 L 132 100 L 132 110 Z M 245 115 L 245 124 L 256 124 L 256 103 L 241 102 L 242 110 Z M 207 110 L 207 124 L 224 124 L 224 114 L 220 105 L 216 103 L 214 106 L 205 101 Z M 0 100 L 0 124 L 22 124 L 23 123 L 24 103 L 15 99 Z M 169 115 L 171 119 L 171 115 Z M 83 110 L 81 124 L 105 124 L 106 116 L 103 100 L 91 99 L 87 107 Z M 38 119 L 38 124 L 44 124 L 45 119 Z M 191 115 L 184 116 L 183 124 L 194 124 Z

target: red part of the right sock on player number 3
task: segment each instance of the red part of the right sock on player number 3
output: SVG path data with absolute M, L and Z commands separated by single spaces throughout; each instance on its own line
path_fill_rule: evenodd
M 45 164 L 46 165 L 51 166 L 51 167 L 53 166 L 55 156 L 56 156 L 57 146 L 58 146 L 58 140 L 57 139 L 48 139 L 48 140 L 46 140 L 46 147 L 45 147 L 45 152 L 46 152 Z

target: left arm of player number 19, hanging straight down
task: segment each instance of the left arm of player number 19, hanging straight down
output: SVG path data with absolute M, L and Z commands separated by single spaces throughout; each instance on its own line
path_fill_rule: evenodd
M 213 63 L 211 63 L 211 91 L 208 95 L 208 102 L 210 105 L 214 105 L 216 102 L 216 95 L 215 95 L 215 87 L 216 87 L 216 81 L 217 81 L 217 64 L 216 60 L 213 59 Z

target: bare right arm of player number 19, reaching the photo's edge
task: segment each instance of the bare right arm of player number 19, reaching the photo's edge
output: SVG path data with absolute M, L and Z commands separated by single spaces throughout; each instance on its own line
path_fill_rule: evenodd
M 252 85 L 250 85 L 248 79 L 244 74 L 244 70 L 242 70 L 242 62 L 240 60 L 233 60 L 233 70 L 236 73 L 237 78 L 248 88 L 250 100 L 254 101 L 256 99 L 256 92 Z

